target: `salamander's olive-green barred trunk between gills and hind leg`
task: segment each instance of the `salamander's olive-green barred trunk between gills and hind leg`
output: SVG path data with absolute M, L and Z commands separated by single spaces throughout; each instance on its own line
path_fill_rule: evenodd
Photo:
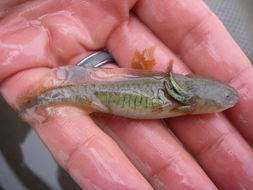
M 94 84 L 87 94 L 98 111 L 130 118 L 160 118 L 173 108 L 160 81 Z

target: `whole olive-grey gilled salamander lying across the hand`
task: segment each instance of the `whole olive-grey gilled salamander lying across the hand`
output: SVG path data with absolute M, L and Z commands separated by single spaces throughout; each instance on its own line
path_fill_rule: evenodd
M 64 66 L 49 75 L 62 75 L 61 82 L 26 98 L 18 108 L 21 114 L 31 108 L 69 104 L 90 112 L 158 119 L 219 112 L 238 100 L 235 89 L 224 83 L 171 71 Z

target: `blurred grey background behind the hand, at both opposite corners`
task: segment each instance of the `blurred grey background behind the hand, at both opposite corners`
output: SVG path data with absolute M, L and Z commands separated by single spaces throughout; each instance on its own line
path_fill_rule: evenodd
M 253 60 L 253 1 L 205 0 Z M 45 167 L 46 166 L 46 167 Z M 0 190 L 79 190 L 0 97 Z

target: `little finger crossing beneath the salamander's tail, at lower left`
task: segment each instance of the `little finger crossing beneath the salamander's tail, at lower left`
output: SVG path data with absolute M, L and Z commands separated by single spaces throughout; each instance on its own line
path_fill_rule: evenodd
M 23 71 L 1 87 L 9 104 L 49 69 Z M 33 80 L 27 80 L 33 78 Z M 16 88 L 15 88 L 16 87 Z M 45 109 L 26 118 L 53 154 L 84 189 L 152 189 L 119 147 L 85 114 L 71 107 Z

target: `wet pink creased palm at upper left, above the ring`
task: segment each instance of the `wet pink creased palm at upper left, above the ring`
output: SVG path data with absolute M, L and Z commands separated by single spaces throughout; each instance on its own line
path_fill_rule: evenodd
M 0 22 L 0 82 L 25 69 L 73 64 L 103 48 L 133 2 L 29 1 L 9 10 Z

